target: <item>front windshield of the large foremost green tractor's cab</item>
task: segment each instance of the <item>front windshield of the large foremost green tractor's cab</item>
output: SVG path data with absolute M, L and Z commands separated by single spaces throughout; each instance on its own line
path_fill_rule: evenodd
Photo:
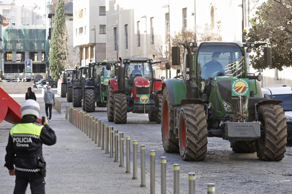
M 245 77 L 244 54 L 234 43 L 203 43 L 197 52 L 198 81 L 216 76 Z

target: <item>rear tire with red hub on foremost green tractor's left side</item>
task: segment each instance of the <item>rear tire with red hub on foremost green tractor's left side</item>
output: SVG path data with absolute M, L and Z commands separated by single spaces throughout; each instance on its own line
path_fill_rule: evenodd
M 173 108 L 170 105 L 170 97 L 165 87 L 162 95 L 161 106 L 161 137 L 165 152 L 179 152 L 178 139 L 173 134 Z

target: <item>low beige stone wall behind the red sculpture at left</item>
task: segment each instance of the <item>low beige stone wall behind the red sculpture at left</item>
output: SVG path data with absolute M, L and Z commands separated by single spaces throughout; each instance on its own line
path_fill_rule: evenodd
M 34 88 L 33 82 L 0 82 L 0 87 L 8 94 L 25 94 L 27 88 Z

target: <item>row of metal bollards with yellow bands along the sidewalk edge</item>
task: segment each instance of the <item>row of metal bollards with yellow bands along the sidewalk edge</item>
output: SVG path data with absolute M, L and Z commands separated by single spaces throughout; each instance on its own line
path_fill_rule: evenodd
M 114 158 L 114 162 L 119 162 L 119 167 L 124 167 L 124 133 L 119 133 L 113 127 L 101 122 L 98 118 L 87 114 L 85 111 L 79 110 L 66 104 L 65 118 L 71 124 L 80 129 L 86 136 L 91 138 L 98 147 L 105 150 L 110 158 Z M 118 156 L 118 139 L 120 146 L 120 160 Z M 131 138 L 126 137 L 126 173 L 131 173 Z M 137 161 L 138 161 L 138 141 L 133 141 L 133 177 L 137 177 Z M 166 157 L 160 157 L 161 163 L 161 194 L 166 194 Z M 145 145 L 140 145 L 140 170 L 141 184 L 140 187 L 146 187 L 146 172 L 145 172 Z M 189 177 L 189 194 L 195 193 L 196 175 L 193 172 L 188 173 Z M 180 165 L 173 164 L 173 193 L 178 194 L 180 187 Z M 215 194 L 215 184 L 207 185 L 207 194 Z M 155 194 L 155 150 L 150 150 L 150 194 Z

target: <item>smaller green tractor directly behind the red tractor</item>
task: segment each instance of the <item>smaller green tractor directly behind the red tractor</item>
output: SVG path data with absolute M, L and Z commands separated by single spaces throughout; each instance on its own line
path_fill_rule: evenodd
M 95 111 L 95 103 L 98 107 L 107 106 L 107 85 L 109 79 L 115 75 L 115 71 L 107 70 L 106 65 L 111 66 L 118 65 L 116 62 L 107 63 L 103 62 L 89 63 L 88 67 L 88 79 L 84 84 L 83 89 L 83 110 L 86 112 Z

